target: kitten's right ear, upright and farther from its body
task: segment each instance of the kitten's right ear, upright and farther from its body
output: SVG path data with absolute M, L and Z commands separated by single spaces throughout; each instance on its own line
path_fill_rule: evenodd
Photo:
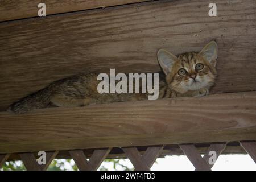
M 199 53 L 214 67 L 216 66 L 216 59 L 218 56 L 218 45 L 215 41 L 211 41 Z

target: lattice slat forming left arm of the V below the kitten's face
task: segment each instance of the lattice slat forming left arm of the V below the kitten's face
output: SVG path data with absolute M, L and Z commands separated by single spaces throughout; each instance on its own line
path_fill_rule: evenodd
M 209 164 L 201 157 L 193 144 L 180 144 L 180 148 L 196 168 L 195 170 L 210 171 Z

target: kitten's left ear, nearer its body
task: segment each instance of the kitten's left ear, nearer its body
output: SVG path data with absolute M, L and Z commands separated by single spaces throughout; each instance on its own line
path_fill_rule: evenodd
M 168 75 L 168 73 L 171 72 L 172 66 L 174 65 L 176 60 L 177 60 L 177 57 L 172 53 L 164 49 L 160 49 L 158 51 L 158 62 L 160 64 L 160 67 L 162 67 L 163 72 L 166 75 Z

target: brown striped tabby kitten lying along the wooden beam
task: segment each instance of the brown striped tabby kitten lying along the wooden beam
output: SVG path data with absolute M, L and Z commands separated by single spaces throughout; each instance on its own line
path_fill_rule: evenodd
M 160 49 L 158 61 L 163 72 L 159 75 L 159 97 L 201 97 L 209 93 L 216 77 L 217 44 L 208 43 L 199 53 L 187 52 L 179 56 Z M 59 107 L 88 104 L 146 100 L 147 94 L 100 94 L 98 74 L 84 73 L 49 84 L 12 104 L 8 111 L 26 113 L 52 103 Z

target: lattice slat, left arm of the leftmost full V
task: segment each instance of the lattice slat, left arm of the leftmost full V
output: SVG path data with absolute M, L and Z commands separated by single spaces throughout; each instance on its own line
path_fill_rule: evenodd
M 27 171 L 41 171 L 38 162 L 36 162 L 35 156 L 31 152 L 27 153 L 20 153 L 20 158 L 22 159 L 22 162 L 24 166 L 26 167 Z

